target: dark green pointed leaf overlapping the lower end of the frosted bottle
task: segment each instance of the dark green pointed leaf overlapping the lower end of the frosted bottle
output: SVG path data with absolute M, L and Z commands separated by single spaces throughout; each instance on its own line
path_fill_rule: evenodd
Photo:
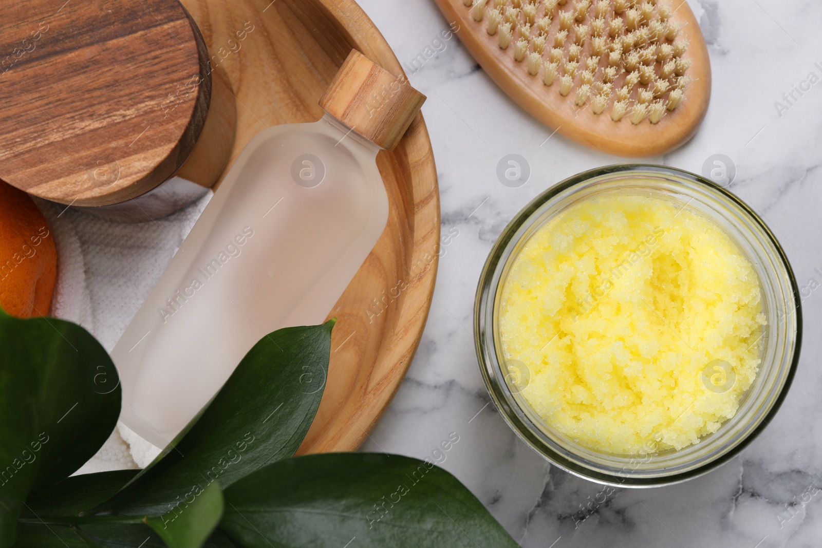
M 261 338 L 201 416 L 96 513 L 160 516 L 195 486 L 230 486 L 291 457 L 320 405 L 334 321 Z

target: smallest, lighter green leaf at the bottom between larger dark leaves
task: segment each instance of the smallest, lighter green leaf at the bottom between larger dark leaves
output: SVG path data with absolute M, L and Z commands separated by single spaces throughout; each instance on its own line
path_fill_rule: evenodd
M 169 548 L 200 548 L 223 517 L 223 491 L 216 481 L 191 496 L 190 503 L 185 500 L 169 513 L 145 520 Z

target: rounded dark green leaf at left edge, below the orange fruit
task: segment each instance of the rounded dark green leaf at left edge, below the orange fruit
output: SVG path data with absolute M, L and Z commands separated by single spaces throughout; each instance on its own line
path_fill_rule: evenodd
M 109 354 L 79 325 L 0 311 L 0 548 L 30 492 L 75 472 L 109 438 L 120 386 Z

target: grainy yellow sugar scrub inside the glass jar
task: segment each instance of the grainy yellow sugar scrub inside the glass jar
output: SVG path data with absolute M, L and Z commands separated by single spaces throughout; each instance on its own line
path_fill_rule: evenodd
M 499 315 L 533 410 L 613 454 L 717 431 L 755 379 L 764 324 L 760 280 L 723 228 L 649 196 L 589 198 L 540 228 Z

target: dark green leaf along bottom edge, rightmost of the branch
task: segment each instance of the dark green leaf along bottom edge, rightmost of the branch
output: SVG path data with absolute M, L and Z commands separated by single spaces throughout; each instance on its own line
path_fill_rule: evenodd
M 517 546 L 450 473 L 397 455 L 289 458 L 224 496 L 219 527 L 246 548 Z

